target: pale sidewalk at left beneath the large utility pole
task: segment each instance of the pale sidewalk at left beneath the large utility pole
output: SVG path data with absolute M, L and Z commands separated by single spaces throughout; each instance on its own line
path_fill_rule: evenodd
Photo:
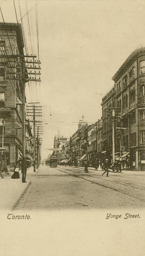
M 27 174 L 36 174 L 33 172 L 33 166 L 27 168 Z M 26 183 L 22 183 L 22 173 L 20 171 L 20 179 L 11 179 L 13 172 L 4 174 L 4 179 L 0 177 L 0 209 L 12 210 L 20 197 L 24 194 L 27 186 L 30 184 L 28 176 L 26 176 Z

